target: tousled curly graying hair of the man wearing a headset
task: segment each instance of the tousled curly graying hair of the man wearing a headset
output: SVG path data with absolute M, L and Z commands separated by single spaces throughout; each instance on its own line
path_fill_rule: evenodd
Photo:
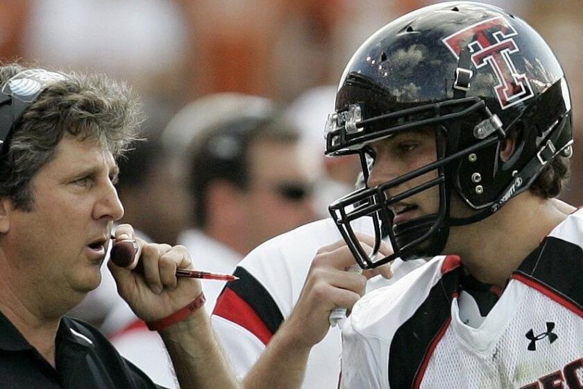
M 0 67 L 0 88 L 28 69 L 11 63 Z M 137 139 L 143 120 L 140 101 L 126 85 L 103 74 L 67 72 L 67 80 L 51 83 L 15 124 L 8 151 L 0 160 L 0 197 L 15 208 L 32 210 L 31 180 L 53 158 L 65 134 L 96 140 L 118 158 Z

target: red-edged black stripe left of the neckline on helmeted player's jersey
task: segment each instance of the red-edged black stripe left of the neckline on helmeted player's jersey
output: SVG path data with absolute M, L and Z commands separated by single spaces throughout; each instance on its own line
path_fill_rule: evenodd
M 446 263 L 447 261 L 444 261 Z M 414 388 L 421 383 L 425 360 L 431 358 L 451 320 L 451 301 L 457 294 L 461 267 L 448 269 L 419 306 L 396 331 L 389 351 L 391 388 Z

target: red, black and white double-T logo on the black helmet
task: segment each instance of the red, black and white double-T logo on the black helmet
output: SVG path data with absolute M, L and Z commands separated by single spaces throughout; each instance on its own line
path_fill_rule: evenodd
M 527 78 L 518 74 L 512 62 L 512 54 L 520 51 L 512 38 L 515 35 L 516 30 L 505 18 L 494 17 L 443 39 L 455 58 L 467 46 L 476 69 L 486 65 L 493 69 L 498 79 L 494 90 L 503 110 L 533 96 Z

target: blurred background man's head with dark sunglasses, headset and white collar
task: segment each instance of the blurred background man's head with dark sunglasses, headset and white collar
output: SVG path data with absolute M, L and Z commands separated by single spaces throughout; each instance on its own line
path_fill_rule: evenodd
M 316 218 L 298 140 L 296 127 L 269 108 L 211 126 L 191 144 L 186 185 L 196 228 L 178 241 L 206 268 L 232 272 L 262 242 Z M 213 303 L 217 286 L 208 285 L 217 289 L 208 291 Z

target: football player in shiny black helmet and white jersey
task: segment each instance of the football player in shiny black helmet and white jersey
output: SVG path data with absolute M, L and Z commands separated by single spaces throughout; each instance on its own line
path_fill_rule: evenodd
M 536 31 L 480 3 L 404 15 L 348 63 L 326 136 L 362 160 L 330 206 L 360 265 L 433 257 L 355 304 L 342 388 L 582 388 L 583 210 L 555 199 L 571 102 Z

